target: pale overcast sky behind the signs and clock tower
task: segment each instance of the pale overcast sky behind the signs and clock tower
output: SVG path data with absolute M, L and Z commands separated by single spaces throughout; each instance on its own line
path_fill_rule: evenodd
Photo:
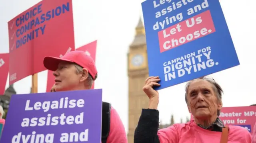
M 0 0 L 0 53 L 8 53 L 7 22 L 40 0 Z M 98 79 L 95 88 L 103 88 L 103 100 L 111 102 L 128 131 L 127 52 L 142 17 L 144 0 L 73 0 L 76 48 L 98 40 L 96 66 Z M 224 106 L 256 104 L 255 0 L 220 0 L 236 47 L 240 65 L 212 74 L 224 89 Z M 46 91 L 47 72 L 38 74 L 38 92 Z M 9 79 L 8 79 L 9 80 Z M 8 82 L 6 88 L 8 87 Z M 185 120 L 190 116 L 184 101 L 184 86 L 160 90 L 160 119 L 163 123 Z M 30 92 L 31 76 L 14 84 L 18 94 Z M 174 98 L 175 97 L 175 98 Z

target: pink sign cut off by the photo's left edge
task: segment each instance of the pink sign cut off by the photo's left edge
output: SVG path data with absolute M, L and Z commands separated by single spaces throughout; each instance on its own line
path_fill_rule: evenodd
M 9 72 L 9 53 L 0 54 L 0 95 L 5 92 Z

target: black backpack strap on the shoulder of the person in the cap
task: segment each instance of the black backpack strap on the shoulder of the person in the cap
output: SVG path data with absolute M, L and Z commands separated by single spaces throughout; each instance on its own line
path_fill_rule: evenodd
M 106 143 L 110 131 L 110 109 L 111 104 L 102 102 L 102 124 L 101 124 L 101 142 Z

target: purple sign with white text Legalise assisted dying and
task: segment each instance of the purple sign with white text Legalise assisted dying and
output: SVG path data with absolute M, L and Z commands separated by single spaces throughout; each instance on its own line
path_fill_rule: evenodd
M 102 89 L 13 95 L 1 143 L 100 143 Z

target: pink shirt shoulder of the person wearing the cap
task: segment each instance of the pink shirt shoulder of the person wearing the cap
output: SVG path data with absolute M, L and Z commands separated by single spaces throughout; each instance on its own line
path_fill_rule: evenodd
M 128 143 L 124 125 L 113 107 L 110 111 L 110 131 L 107 143 Z

